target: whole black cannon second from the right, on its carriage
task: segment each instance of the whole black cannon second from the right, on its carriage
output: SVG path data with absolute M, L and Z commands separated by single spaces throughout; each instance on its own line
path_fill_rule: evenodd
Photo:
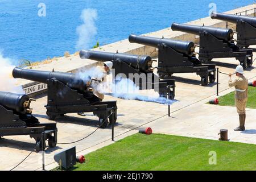
M 233 30 L 207 26 L 172 23 L 172 30 L 200 36 L 199 59 L 209 63 L 214 58 L 235 57 L 243 68 L 253 64 L 253 50 L 240 49 L 233 39 Z

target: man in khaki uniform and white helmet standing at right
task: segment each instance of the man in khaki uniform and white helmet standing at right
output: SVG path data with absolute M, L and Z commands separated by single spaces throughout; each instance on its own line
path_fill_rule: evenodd
M 243 67 L 241 65 L 238 65 L 236 68 L 236 76 L 237 78 L 232 80 L 231 73 L 229 73 L 229 86 L 235 87 L 235 100 L 240 122 L 240 126 L 234 129 L 234 131 L 243 131 L 245 130 L 245 107 L 248 96 L 248 80 L 243 76 Z

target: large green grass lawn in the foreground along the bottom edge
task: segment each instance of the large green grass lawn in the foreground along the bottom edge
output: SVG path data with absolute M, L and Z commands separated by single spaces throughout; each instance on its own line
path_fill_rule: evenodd
M 216 151 L 217 164 L 209 164 Z M 85 155 L 73 170 L 256 170 L 256 145 L 135 134 Z

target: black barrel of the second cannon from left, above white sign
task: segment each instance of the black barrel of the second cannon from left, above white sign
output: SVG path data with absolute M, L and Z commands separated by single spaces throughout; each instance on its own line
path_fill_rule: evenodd
M 79 78 L 78 75 L 74 73 L 64 73 L 64 72 L 48 72 L 48 71 L 38 71 L 35 69 L 22 69 L 15 67 L 13 69 L 14 78 L 23 78 L 26 80 L 47 83 L 47 80 L 56 78 L 56 80 L 63 82 L 70 88 L 75 88 L 83 91 L 86 89 L 86 81 Z

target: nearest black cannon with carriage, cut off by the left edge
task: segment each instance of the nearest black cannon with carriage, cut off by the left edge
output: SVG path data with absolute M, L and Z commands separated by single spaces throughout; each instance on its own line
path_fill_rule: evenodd
M 31 99 L 26 94 L 0 92 L 0 138 L 11 135 L 30 135 L 36 141 L 36 151 L 57 144 L 56 122 L 40 123 L 30 108 Z

